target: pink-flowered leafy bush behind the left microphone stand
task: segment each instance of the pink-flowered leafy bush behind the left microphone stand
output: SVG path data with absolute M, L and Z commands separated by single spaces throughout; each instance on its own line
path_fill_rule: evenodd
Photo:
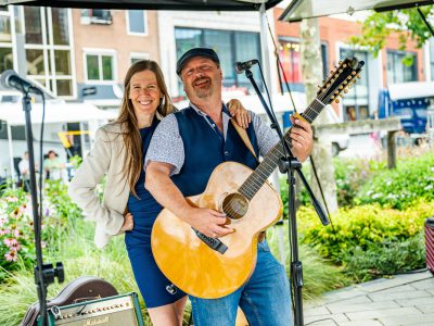
M 71 201 L 64 184 L 50 180 L 46 183 L 42 211 L 42 248 L 56 251 L 81 211 Z M 15 271 L 20 264 L 33 267 L 36 251 L 31 201 L 22 188 L 7 188 L 0 198 L 0 281 L 9 275 L 4 271 Z

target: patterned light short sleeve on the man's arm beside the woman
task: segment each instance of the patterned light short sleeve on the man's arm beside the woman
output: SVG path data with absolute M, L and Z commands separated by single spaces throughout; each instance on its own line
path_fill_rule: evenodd
M 144 159 L 144 168 L 150 162 L 173 165 L 170 175 L 181 171 L 184 162 L 183 142 L 174 114 L 167 115 L 156 127 Z

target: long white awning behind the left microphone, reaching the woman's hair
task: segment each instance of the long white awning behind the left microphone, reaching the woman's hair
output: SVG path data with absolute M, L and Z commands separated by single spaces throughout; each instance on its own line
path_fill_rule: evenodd
M 72 123 L 87 121 L 107 121 L 115 118 L 116 113 L 103 111 L 90 103 L 65 103 L 62 101 L 46 104 L 46 124 Z M 18 103 L 1 103 L 0 120 L 11 126 L 25 125 L 23 105 Z M 31 124 L 40 124 L 42 120 L 42 104 L 31 104 Z

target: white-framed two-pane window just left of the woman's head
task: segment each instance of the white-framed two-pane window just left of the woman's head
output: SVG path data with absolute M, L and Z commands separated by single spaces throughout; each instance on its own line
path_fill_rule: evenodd
M 87 80 L 89 82 L 113 82 L 114 54 L 111 53 L 85 53 Z

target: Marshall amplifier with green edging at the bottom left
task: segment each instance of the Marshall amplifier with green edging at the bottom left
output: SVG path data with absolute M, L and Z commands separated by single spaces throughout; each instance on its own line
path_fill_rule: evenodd
M 49 310 L 49 319 L 50 326 L 144 326 L 135 292 L 69 305 L 54 305 Z

